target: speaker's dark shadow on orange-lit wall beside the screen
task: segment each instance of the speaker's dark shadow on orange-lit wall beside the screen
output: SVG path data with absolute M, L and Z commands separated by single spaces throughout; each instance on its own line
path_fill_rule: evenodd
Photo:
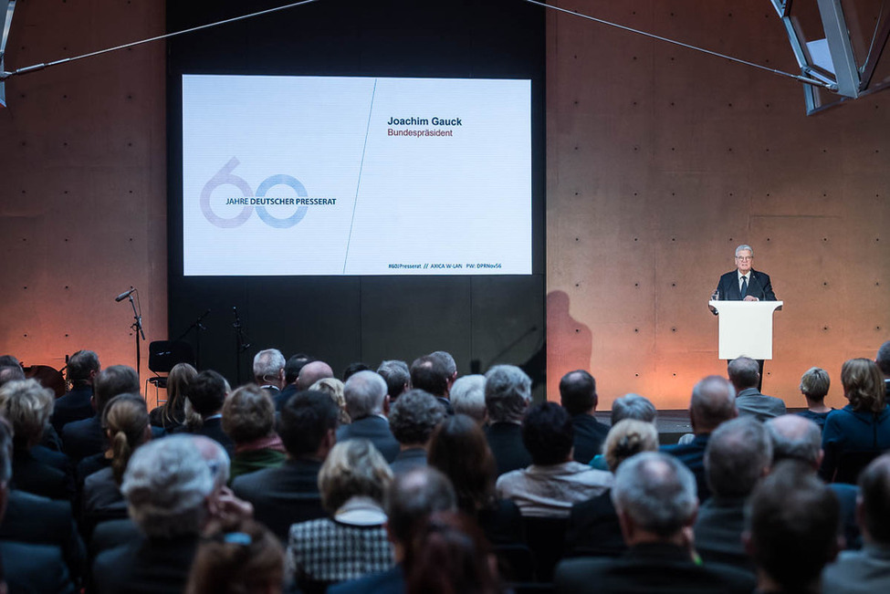
M 569 313 L 565 291 L 547 294 L 547 400 L 560 400 L 560 379 L 573 370 L 590 370 L 591 328 Z

